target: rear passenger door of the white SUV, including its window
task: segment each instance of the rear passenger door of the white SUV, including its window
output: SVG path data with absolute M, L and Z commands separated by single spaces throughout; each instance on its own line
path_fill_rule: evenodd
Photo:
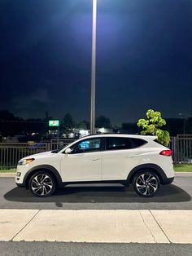
M 141 161 L 139 148 L 134 148 L 132 139 L 127 137 L 106 137 L 103 151 L 102 179 L 125 180 L 129 171 Z

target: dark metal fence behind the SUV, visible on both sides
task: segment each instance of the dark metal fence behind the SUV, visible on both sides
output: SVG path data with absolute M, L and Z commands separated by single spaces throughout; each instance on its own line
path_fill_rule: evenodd
M 56 148 L 63 148 L 74 139 L 50 140 L 49 143 L 0 143 L 0 170 L 15 169 L 17 162 L 37 152 L 45 152 Z M 192 135 L 177 135 L 172 137 L 169 147 L 172 149 L 172 158 L 176 163 L 192 163 Z

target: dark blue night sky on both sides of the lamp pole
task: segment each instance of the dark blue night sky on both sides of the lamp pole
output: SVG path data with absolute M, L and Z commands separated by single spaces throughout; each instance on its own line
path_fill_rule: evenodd
M 89 121 L 91 0 L 0 0 L 0 109 Z M 192 115 L 192 1 L 98 0 L 96 116 Z

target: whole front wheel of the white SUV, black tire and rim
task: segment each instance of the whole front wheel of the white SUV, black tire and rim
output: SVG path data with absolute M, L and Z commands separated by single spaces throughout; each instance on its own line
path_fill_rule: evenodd
M 46 197 L 55 192 L 55 179 L 46 170 L 39 170 L 29 179 L 28 188 L 33 196 Z

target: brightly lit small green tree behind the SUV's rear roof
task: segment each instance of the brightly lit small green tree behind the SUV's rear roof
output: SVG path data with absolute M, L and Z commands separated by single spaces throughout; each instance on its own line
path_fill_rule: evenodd
M 170 136 L 167 130 L 161 130 L 159 127 L 165 126 L 166 121 L 161 117 L 159 111 L 148 109 L 146 112 L 147 119 L 139 119 L 137 126 L 142 127 L 142 135 L 156 135 L 159 143 L 168 146 Z

